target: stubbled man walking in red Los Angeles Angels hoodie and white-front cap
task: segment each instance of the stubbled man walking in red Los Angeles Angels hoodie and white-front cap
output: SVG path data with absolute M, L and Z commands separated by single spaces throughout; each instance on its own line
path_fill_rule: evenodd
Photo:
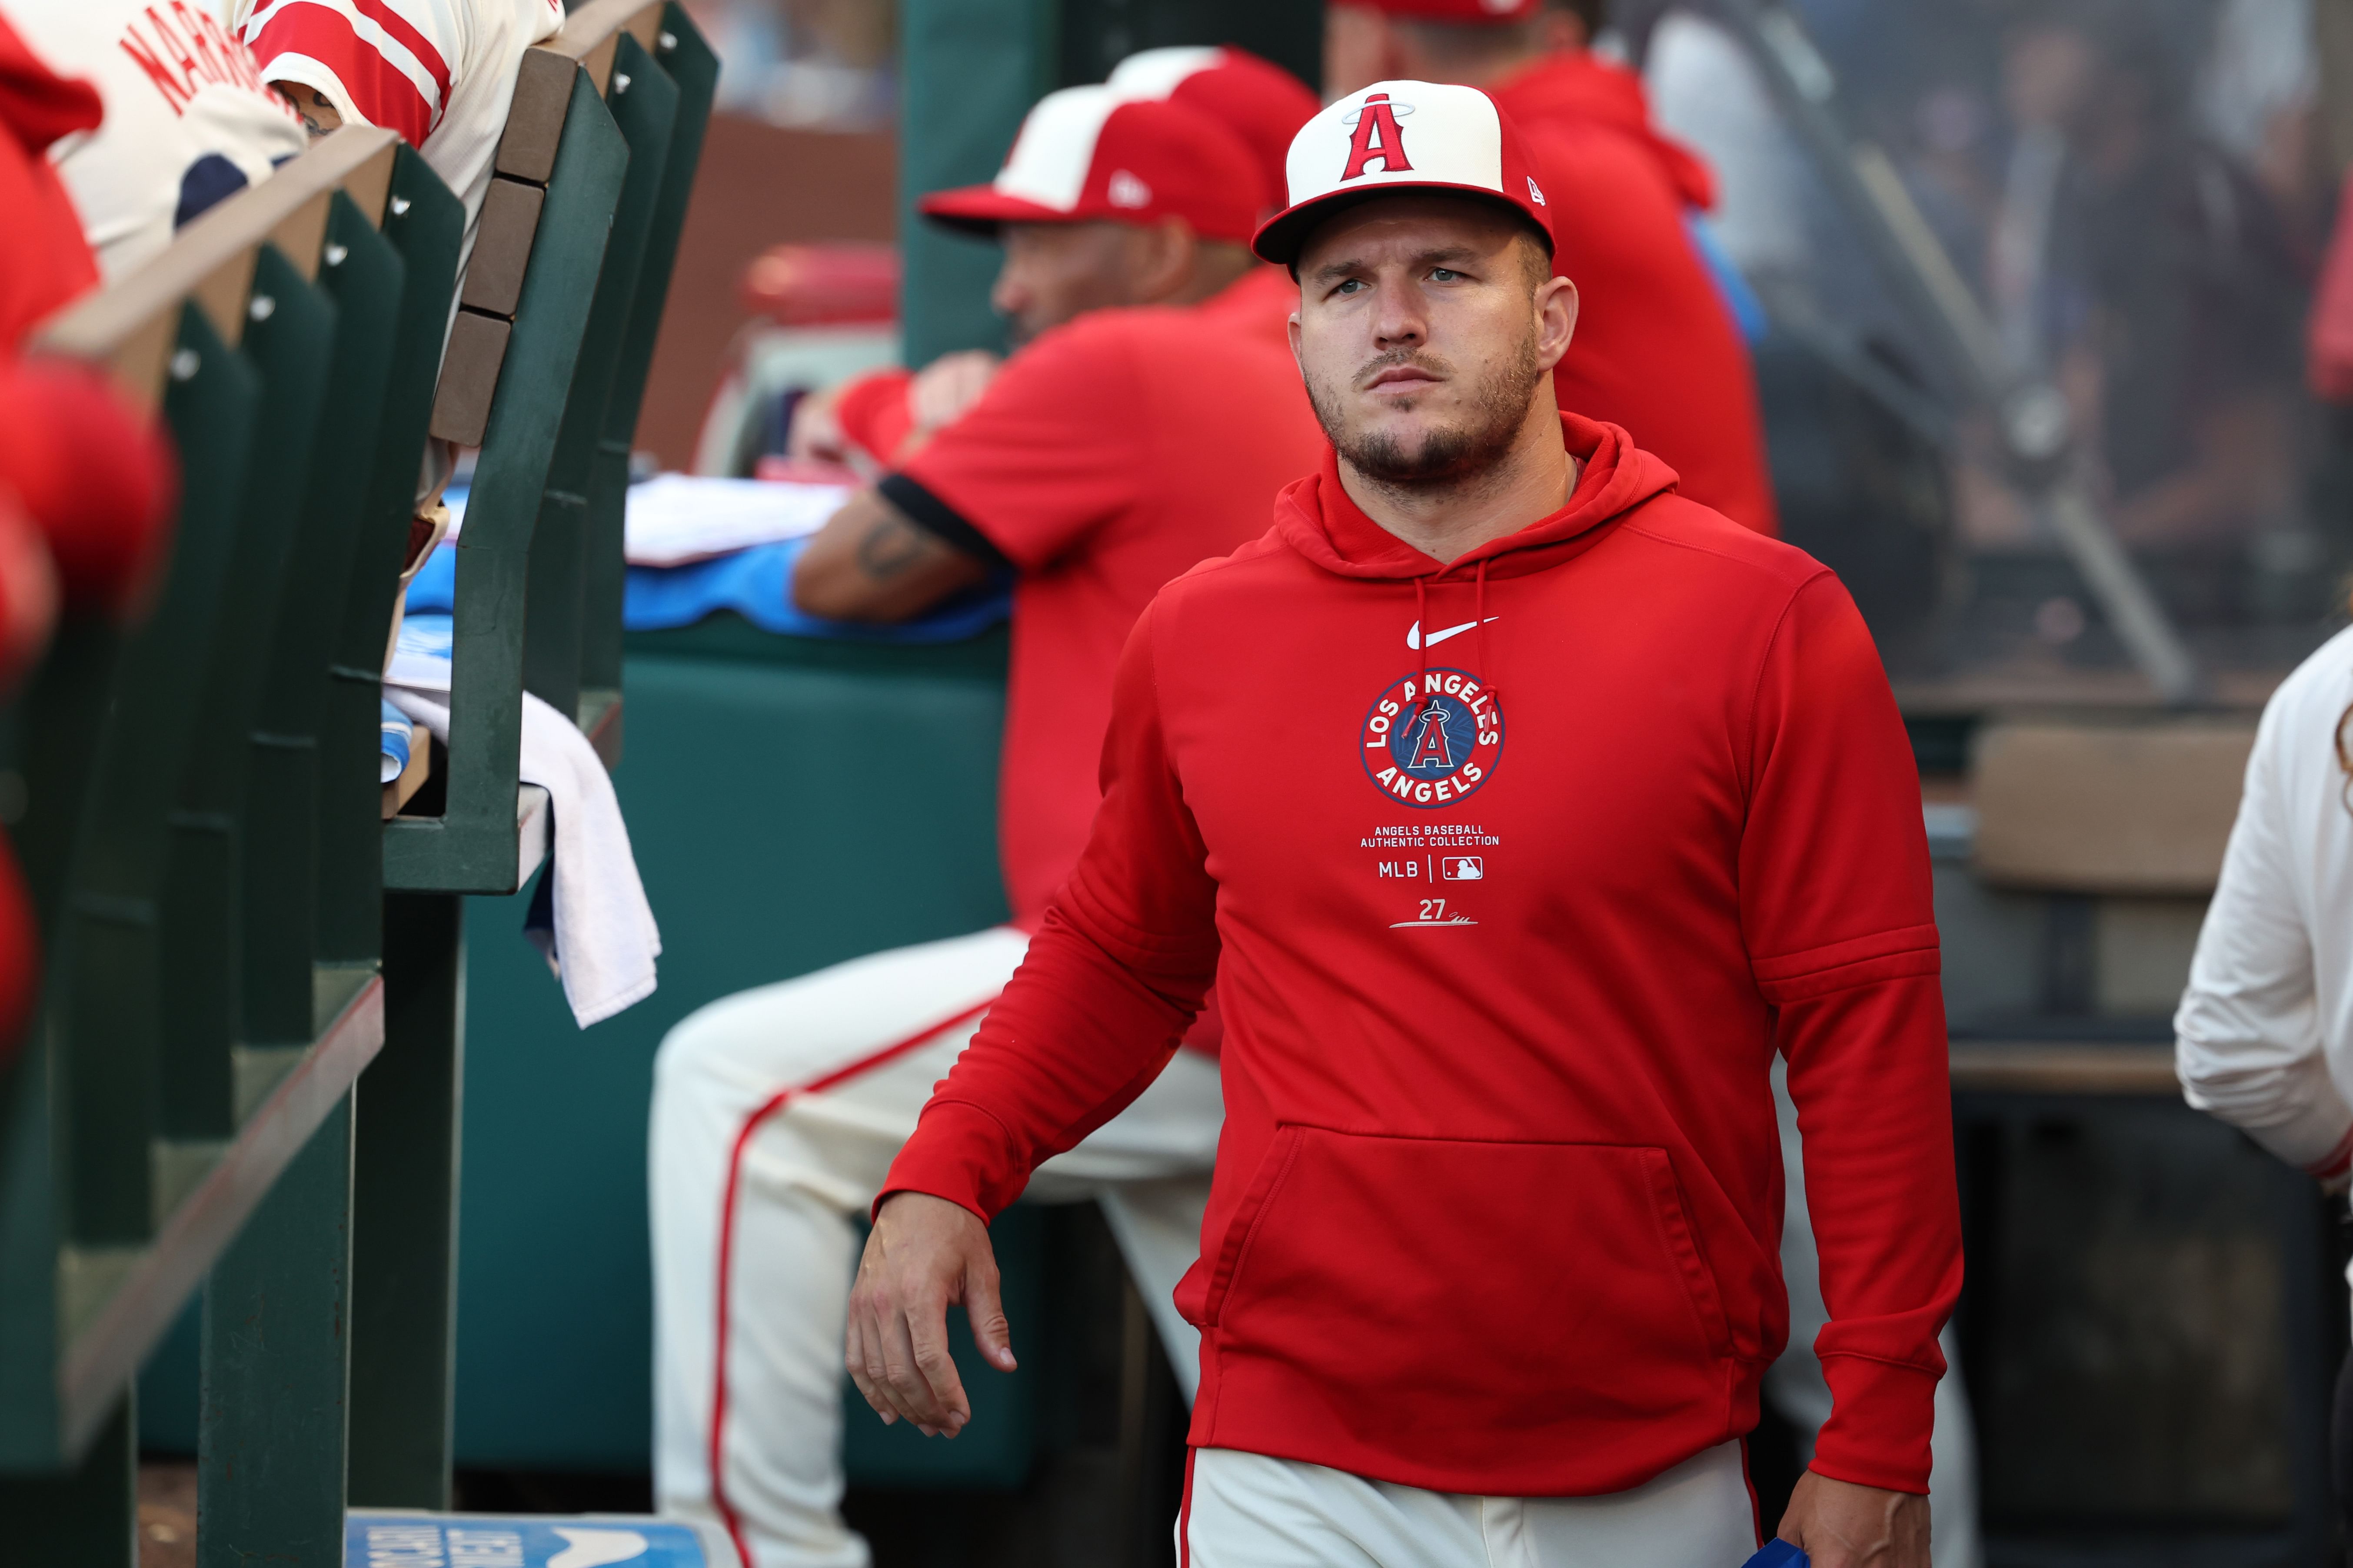
M 1739 1563 L 1788 1321 L 1779 1053 L 1835 1396 L 1779 1528 L 1925 1568 L 1960 1225 L 1871 637 L 1824 567 L 1560 411 L 1548 254 L 1584 214 L 1485 94 L 1332 103 L 1289 193 L 1257 249 L 1299 273 L 1334 451 L 1136 623 L 1087 849 L 882 1182 L 849 1373 L 962 1427 L 946 1305 L 1012 1366 L 986 1215 L 1214 978 L 1186 1561 Z

